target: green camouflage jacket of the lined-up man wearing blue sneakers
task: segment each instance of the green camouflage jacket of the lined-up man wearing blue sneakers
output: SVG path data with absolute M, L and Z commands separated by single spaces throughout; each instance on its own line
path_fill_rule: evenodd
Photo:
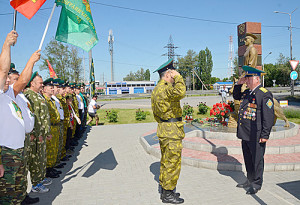
M 24 92 L 29 100 L 34 113 L 34 128 L 30 134 L 35 137 L 50 135 L 50 118 L 46 100 L 39 93 L 34 92 L 30 88 Z

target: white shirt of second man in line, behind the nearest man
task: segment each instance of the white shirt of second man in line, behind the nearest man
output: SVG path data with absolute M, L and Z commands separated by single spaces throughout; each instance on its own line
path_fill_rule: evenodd
M 24 118 L 25 123 L 25 133 L 30 133 L 34 127 L 34 114 L 30 110 L 30 102 L 23 93 L 19 93 L 17 97 L 15 97 L 13 86 L 14 85 L 10 85 L 5 94 L 8 95 L 11 99 L 13 99 L 21 108 L 22 116 Z

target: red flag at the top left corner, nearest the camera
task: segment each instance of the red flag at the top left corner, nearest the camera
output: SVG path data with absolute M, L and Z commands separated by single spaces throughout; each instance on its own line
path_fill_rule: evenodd
M 43 6 L 45 1 L 46 0 L 10 0 L 10 5 L 26 18 L 31 19 Z

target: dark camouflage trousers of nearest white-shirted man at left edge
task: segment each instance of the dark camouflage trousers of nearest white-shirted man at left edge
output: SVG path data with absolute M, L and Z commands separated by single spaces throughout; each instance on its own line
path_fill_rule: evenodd
M 25 164 L 24 148 L 10 149 L 1 147 L 4 176 L 0 178 L 0 204 L 20 204 L 24 198 Z M 27 177 L 27 176 L 26 176 Z M 26 192 L 26 191 L 25 191 Z

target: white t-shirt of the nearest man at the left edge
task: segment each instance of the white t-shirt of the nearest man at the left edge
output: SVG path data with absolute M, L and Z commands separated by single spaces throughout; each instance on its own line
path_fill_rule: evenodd
M 21 108 L 7 94 L 0 92 L 0 146 L 24 147 L 25 123 Z

